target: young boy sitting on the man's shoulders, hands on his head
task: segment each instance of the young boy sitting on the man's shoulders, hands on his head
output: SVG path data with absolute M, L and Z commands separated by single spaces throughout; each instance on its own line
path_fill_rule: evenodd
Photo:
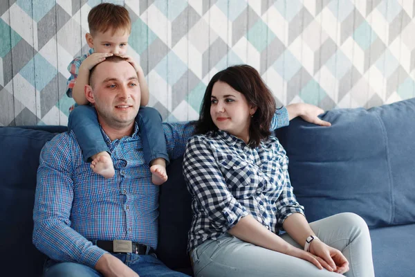
M 69 115 L 68 128 L 75 133 L 84 160 L 91 161 L 92 170 L 103 177 L 111 178 L 115 171 L 109 149 L 100 132 L 95 109 L 89 105 L 84 95 L 85 85 L 89 84 L 89 71 L 106 57 L 119 55 L 136 69 L 141 90 L 141 106 L 147 105 L 149 101 L 149 89 L 141 66 L 126 55 L 131 33 L 131 20 L 127 9 L 112 3 L 101 3 L 89 12 L 88 24 L 90 33 L 86 33 L 85 38 L 91 50 L 87 55 L 75 58 L 68 66 L 71 77 L 68 79 L 66 94 L 77 103 L 77 107 Z M 166 161 L 169 158 L 160 114 L 151 107 L 140 107 L 136 122 L 142 137 L 145 161 L 151 165 L 152 181 L 156 185 L 163 184 L 167 181 Z

